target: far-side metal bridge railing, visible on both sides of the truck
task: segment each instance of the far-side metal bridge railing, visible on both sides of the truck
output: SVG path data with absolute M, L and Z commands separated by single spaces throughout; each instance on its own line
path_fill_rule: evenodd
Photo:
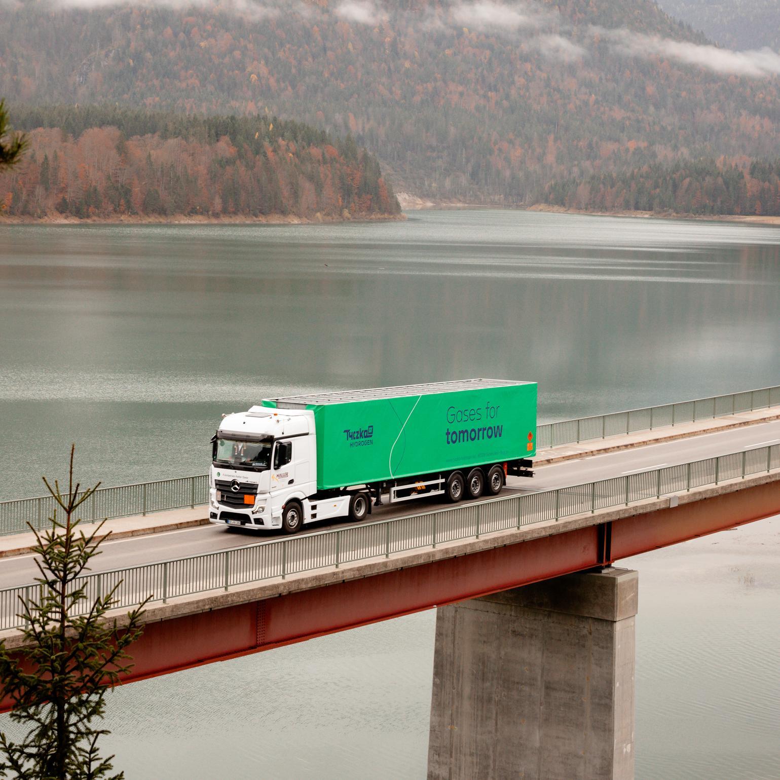
M 780 406 L 780 386 L 747 390 L 731 395 L 683 401 L 665 406 L 648 406 L 628 412 L 615 412 L 579 420 L 563 420 L 537 427 L 537 449 L 575 444 L 636 431 L 652 431 L 665 425 L 725 417 L 757 409 Z M 146 515 L 164 509 L 195 507 L 208 501 L 208 476 L 179 477 L 172 480 L 140 482 L 101 488 L 80 511 L 85 520 L 113 519 L 129 515 Z M 0 502 L 0 536 L 26 531 L 29 521 L 36 528 L 48 526 L 48 516 L 54 509 L 51 496 L 19 498 Z

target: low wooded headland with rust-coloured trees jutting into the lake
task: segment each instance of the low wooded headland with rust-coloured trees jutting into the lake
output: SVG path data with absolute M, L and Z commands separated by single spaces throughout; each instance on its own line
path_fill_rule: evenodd
M 14 119 L 30 147 L 0 173 L 0 207 L 12 218 L 399 213 L 371 154 L 296 122 L 102 107 Z

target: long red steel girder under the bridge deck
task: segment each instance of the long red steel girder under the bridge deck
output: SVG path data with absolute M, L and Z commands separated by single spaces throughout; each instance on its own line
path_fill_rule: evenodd
M 780 514 L 780 482 L 505 547 L 144 626 L 124 682 L 604 566 Z M 8 702 L 0 703 L 0 711 Z

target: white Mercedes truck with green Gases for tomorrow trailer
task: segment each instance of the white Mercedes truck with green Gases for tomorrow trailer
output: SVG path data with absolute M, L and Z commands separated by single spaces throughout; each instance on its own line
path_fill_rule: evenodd
M 213 441 L 214 523 L 293 533 L 390 502 L 498 495 L 533 476 L 537 385 L 469 379 L 265 399 Z

